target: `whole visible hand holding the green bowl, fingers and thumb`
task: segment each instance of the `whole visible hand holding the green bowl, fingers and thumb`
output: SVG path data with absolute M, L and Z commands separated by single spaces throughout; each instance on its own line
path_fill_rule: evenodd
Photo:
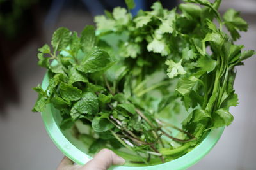
M 124 163 L 125 160 L 113 151 L 102 149 L 84 166 L 74 165 L 72 160 L 64 157 L 57 170 L 107 170 L 111 165 L 123 165 Z

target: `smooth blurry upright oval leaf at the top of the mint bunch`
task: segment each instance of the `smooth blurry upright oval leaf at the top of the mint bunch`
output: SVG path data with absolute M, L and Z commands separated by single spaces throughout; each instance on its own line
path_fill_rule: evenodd
M 92 50 L 96 43 L 95 27 L 92 25 L 86 26 L 81 33 L 80 42 L 84 52 Z

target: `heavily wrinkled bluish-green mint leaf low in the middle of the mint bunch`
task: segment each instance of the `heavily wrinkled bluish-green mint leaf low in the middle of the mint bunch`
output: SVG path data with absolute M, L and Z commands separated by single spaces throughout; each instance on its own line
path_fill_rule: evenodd
M 93 115 L 99 111 L 98 98 L 92 92 L 86 92 L 81 99 L 74 104 L 77 111 L 84 114 Z

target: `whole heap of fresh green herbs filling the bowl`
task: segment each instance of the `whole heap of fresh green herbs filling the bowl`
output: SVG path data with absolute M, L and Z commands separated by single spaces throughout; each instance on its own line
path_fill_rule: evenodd
M 89 25 L 77 36 L 61 27 L 52 48 L 39 49 L 49 85 L 34 88 L 33 111 L 53 104 L 63 117 L 61 129 L 87 125 L 88 133 L 77 136 L 91 140 L 90 153 L 122 148 L 136 155 L 131 162 L 159 164 L 231 124 L 228 109 L 238 104 L 234 67 L 255 52 L 234 44 L 248 24 L 233 9 L 221 16 L 221 0 L 187 0 L 173 10 L 156 2 L 134 17 L 134 2 L 125 2 L 127 9 L 95 17 L 96 31 Z M 179 128 L 169 120 L 181 111 L 188 117 Z

